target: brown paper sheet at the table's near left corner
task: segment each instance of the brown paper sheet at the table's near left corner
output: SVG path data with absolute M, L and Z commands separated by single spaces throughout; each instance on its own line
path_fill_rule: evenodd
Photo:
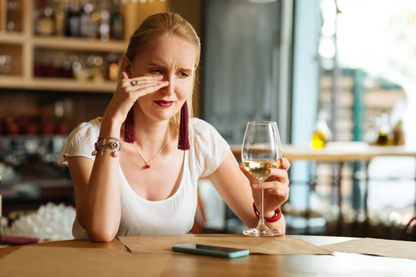
M 0 276 L 160 276 L 171 256 L 117 249 L 21 247 L 0 259 Z

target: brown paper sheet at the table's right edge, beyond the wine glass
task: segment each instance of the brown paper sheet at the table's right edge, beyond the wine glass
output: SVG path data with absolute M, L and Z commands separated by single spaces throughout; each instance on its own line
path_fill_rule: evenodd
M 416 242 L 361 238 L 349 240 L 347 242 L 327 244 L 322 246 L 322 248 L 334 252 L 348 252 L 416 260 Z

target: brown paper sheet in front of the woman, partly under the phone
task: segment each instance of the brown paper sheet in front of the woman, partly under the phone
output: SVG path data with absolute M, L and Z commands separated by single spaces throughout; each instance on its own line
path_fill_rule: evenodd
M 252 238 L 244 235 L 193 236 L 160 235 L 118 237 L 132 253 L 172 253 L 172 246 L 181 243 L 207 244 L 219 247 L 249 249 L 250 253 L 280 255 L 330 255 L 332 251 L 315 247 L 309 242 L 295 238 Z

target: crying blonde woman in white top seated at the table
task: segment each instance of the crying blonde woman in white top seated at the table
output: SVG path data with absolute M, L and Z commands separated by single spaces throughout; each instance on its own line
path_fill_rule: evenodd
M 60 159 L 75 187 L 75 238 L 187 233 L 200 177 L 248 226 L 257 225 L 261 188 L 266 217 L 286 202 L 287 160 L 257 186 L 214 127 L 188 118 L 199 57 L 198 35 L 180 15 L 151 15 L 132 35 L 104 116 L 78 125 Z M 284 218 L 268 225 L 284 231 Z

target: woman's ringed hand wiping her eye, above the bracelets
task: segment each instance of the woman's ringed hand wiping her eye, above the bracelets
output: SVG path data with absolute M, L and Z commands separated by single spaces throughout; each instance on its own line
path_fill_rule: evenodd
M 128 75 L 123 72 L 123 78 L 117 87 L 116 93 L 108 105 L 103 120 L 110 120 L 111 122 L 119 123 L 121 125 L 127 117 L 128 111 L 138 98 L 145 96 L 166 87 L 169 82 L 162 81 L 163 75 L 157 76 L 142 76 L 137 78 L 128 78 Z M 137 84 L 132 85 L 132 81 L 137 81 Z

